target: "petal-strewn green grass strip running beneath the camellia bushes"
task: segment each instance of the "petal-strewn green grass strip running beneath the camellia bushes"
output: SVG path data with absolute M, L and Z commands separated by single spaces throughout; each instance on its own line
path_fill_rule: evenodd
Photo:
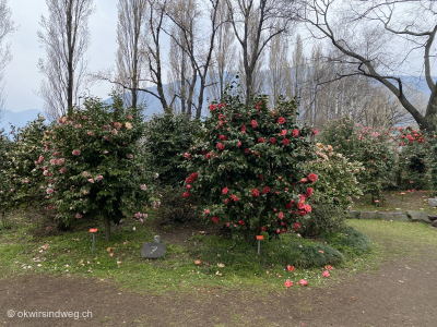
M 75 275 L 101 282 L 110 279 L 122 288 L 154 294 L 217 289 L 281 291 L 285 289 L 283 282 L 286 279 L 307 279 L 309 286 L 318 287 L 327 280 L 321 276 L 327 263 L 334 266 L 331 279 L 335 279 L 343 272 L 376 270 L 385 259 L 413 255 L 421 249 L 429 249 L 430 253 L 437 247 L 436 230 L 422 223 L 349 220 L 349 226 L 370 237 L 370 252 L 359 247 L 366 242 L 365 237 L 351 229 L 328 237 L 332 247 L 295 235 L 262 241 L 261 256 L 257 255 L 256 244 L 196 235 L 184 246 L 167 244 L 164 258 L 144 259 L 140 252 L 144 242 L 153 241 L 153 223 L 131 222 L 117 228 L 110 242 L 98 233 L 92 256 L 92 238 L 87 229 L 60 235 L 38 235 L 33 232 L 35 225 L 27 221 L 15 217 L 12 229 L 0 230 L 0 278 L 23 274 Z M 351 238 L 355 238 L 353 244 Z M 339 255 L 345 261 L 340 262 Z M 196 259 L 202 263 L 194 265 Z M 287 264 L 300 267 L 288 271 Z

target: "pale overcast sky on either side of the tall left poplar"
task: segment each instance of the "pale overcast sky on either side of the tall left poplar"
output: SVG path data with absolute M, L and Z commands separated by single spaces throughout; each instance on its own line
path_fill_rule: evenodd
M 13 59 L 5 69 L 5 109 L 23 111 L 43 110 L 44 101 L 36 95 L 43 75 L 37 62 L 45 58 L 45 50 L 39 47 L 37 31 L 40 29 L 40 15 L 47 16 L 45 0 L 9 0 L 12 19 L 20 29 L 10 37 Z M 96 12 L 90 17 L 91 46 L 87 51 L 90 71 L 114 66 L 117 51 L 117 0 L 94 0 Z M 107 83 L 96 85 L 91 94 L 107 98 L 111 86 Z

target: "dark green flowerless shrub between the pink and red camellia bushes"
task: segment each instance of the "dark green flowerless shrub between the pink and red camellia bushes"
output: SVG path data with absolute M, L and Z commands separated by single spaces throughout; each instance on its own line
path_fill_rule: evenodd
M 186 114 L 156 114 L 146 123 L 144 140 L 147 164 L 160 174 L 163 184 L 180 184 L 187 169 L 180 167 L 193 137 L 200 130 L 200 122 L 190 121 Z

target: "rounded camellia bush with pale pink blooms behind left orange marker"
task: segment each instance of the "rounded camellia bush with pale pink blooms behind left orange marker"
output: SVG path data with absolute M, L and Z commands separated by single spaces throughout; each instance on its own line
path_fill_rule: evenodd
M 57 219 L 69 226 L 103 217 L 109 240 L 111 221 L 146 217 L 141 208 L 147 199 L 147 172 L 138 147 L 144 124 L 118 97 L 111 106 L 88 98 L 84 107 L 46 132 L 47 153 L 37 159 L 38 167 Z

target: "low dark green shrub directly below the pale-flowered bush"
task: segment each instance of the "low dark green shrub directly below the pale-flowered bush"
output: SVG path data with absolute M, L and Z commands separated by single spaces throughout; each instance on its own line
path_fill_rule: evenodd
M 318 238 L 323 233 L 336 233 L 345 228 L 346 213 L 329 203 L 314 203 L 311 218 L 298 232 L 305 238 Z

